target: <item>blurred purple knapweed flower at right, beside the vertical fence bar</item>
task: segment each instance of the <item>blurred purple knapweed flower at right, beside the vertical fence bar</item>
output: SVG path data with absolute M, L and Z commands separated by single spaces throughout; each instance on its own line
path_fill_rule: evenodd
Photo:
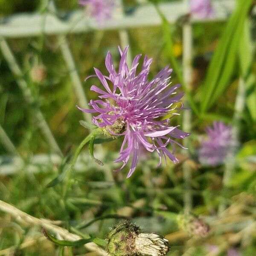
M 224 163 L 228 153 L 236 147 L 231 125 L 213 122 L 213 127 L 206 128 L 207 138 L 201 140 L 198 152 L 199 162 L 205 166 L 217 166 Z

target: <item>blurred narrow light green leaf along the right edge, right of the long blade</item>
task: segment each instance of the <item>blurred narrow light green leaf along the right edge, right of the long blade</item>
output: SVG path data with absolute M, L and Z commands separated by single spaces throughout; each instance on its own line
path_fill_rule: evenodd
M 241 75 L 246 89 L 246 104 L 250 116 L 256 122 L 256 76 L 253 73 L 253 51 L 250 38 L 250 24 L 246 20 L 239 44 L 239 62 Z

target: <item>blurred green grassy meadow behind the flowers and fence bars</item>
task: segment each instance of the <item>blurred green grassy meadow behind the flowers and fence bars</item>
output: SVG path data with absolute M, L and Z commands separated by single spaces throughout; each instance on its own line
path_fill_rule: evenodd
M 240 6 L 241 2 L 238 1 Z M 44 13 L 46 3 L 0 0 L 0 17 L 21 12 Z M 55 0 L 55 4 L 59 11 L 64 12 L 81 8 L 76 0 Z M 138 5 L 132 0 L 124 1 L 124 4 L 126 12 Z M 170 244 L 168 255 L 172 256 L 256 255 L 256 16 L 253 12 L 244 12 L 238 8 L 232 15 L 227 14 L 227 21 L 192 25 L 190 94 L 196 111 L 191 108 L 189 150 L 184 152 L 177 148 L 180 163 L 175 165 L 168 160 L 167 166 L 162 164 L 156 169 L 157 154 L 148 152 L 140 157 L 134 175 L 126 179 L 129 165 L 121 172 L 112 172 L 119 166 L 113 160 L 122 139 L 95 145 L 95 155 L 105 166 L 90 159 L 86 146 L 64 197 L 62 182 L 51 187 L 48 185 L 63 172 L 65 163 L 70 161 L 78 145 L 89 134 L 89 130 L 79 124 L 83 115 L 76 108 L 78 99 L 69 70 L 63 61 L 57 37 L 42 34 L 37 38 L 8 39 L 22 69 L 23 79 L 32 92 L 33 102 L 24 99 L 17 86 L 19 77 L 11 72 L 0 52 L 0 125 L 23 159 L 17 172 L 6 174 L 6 166 L 14 160 L 0 143 L 0 200 L 36 218 L 58 221 L 58 225 L 71 233 L 94 234 L 100 238 L 105 238 L 118 217 L 126 217 L 147 232 L 166 236 Z M 163 19 L 162 26 L 129 29 L 128 35 L 132 56 L 143 53 L 154 59 L 150 78 L 167 64 L 173 67 L 173 58 L 182 71 L 183 35 L 179 23 L 169 26 Z M 70 33 L 67 40 L 81 81 L 94 73 L 93 67 L 106 73 L 108 50 L 113 54 L 116 67 L 119 63 L 117 46 L 121 42 L 118 31 Z M 38 67 L 41 70 L 37 70 L 40 73 L 35 76 L 33 72 Z M 174 69 L 172 84 L 180 83 L 177 73 Z M 242 112 L 234 119 L 239 79 L 244 82 L 245 103 Z M 94 83 L 99 84 L 96 79 L 83 82 L 88 100 L 96 99 L 96 93 L 90 91 Z M 37 108 L 44 114 L 64 154 L 63 158 L 56 156 L 57 161 L 50 157 L 51 148 L 36 123 Z M 197 159 L 200 137 L 206 126 L 216 120 L 232 123 L 239 131 L 240 144 L 226 187 L 222 178 L 227 164 L 205 167 Z M 182 122 L 182 113 L 172 118 L 173 125 L 182 125 Z M 32 168 L 33 156 L 38 162 L 35 160 Z M 211 228 L 204 238 L 186 235 L 175 221 L 176 214 L 184 207 L 184 163 L 192 175 L 192 189 L 189 191 L 193 198 L 192 212 L 201 215 Z M 227 209 L 219 212 L 223 201 Z M 103 218 L 83 227 L 94 218 L 108 215 L 116 218 Z M 214 251 L 216 248 L 219 249 L 217 252 Z M 44 238 L 40 227 L 20 221 L 0 209 L 0 255 L 98 254 L 82 246 L 64 248 L 62 252 L 60 247 Z

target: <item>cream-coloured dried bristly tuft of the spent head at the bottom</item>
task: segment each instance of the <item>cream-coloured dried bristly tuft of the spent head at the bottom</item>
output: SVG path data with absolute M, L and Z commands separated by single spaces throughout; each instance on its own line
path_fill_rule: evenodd
M 169 251 L 169 243 L 155 233 L 140 233 L 135 238 L 135 249 L 142 255 L 165 256 Z

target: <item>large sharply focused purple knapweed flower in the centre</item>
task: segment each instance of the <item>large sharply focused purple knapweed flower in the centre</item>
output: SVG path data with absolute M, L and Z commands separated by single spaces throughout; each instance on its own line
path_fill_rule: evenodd
M 136 169 L 140 147 L 150 152 L 157 151 L 160 157 L 158 166 L 161 158 L 166 160 L 166 156 L 177 163 L 175 144 L 180 147 L 182 145 L 175 139 L 183 139 L 189 134 L 178 129 L 178 126 L 170 126 L 169 118 L 165 118 L 168 114 L 178 114 L 173 113 L 175 109 L 180 109 L 175 104 L 183 97 L 183 93 L 176 94 L 180 85 L 170 87 L 172 70 L 167 66 L 148 81 L 152 59 L 145 56 L 142 70 L 137 73 L 141 54 L 134 58 L 129 69 L 126 63 L 127 51 L 128 47 L 123 52 L 119 48 L 121 60 L 118 71 L 115 70 L 112 55 L 108 52 L 105 63 L 109 76 L 104 76 L 94 68 L 96 77 L 105 90 L 93 85 L 91 90 L 99 93 L 100 99 L 90 101 L 89 105 L 93 109 L 79 109 L 86 113 L 99 113 L 93 117 L 93 123 L 101 127 L 107 136 L 125 136 L 115 163 L 123 163 L 119 169 L 121 170 L 132 155 L 127 175 L 130 177 Z M 109 83 L 112 84 L 112 90 Z M 169 144 L 172 145 L 172 152 L 167 149 Z

